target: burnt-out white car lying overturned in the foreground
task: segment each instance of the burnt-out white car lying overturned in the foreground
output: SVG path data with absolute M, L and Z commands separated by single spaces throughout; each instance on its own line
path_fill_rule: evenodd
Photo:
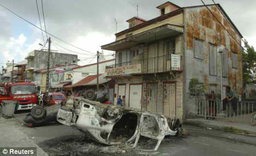
M 69 98 L 57 113 L 57 121 L 78 129 L 86 137 L 106 145 L 133 143 L 140 136 L 158 140 L 158 150 L 167 135 L 177 135 L 179 120 L 148 111 L 101 104 L 84 98 Z

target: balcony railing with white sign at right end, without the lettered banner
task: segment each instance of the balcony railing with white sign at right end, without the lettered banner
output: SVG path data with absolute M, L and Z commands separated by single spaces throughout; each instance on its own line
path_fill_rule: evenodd
M 177 55 L 176 55 L 177 56 Z M 150 74 L 150 73 L 162 73 L 167 71 L 183 71 L 183 58 L 179 56 L 179 60 L 175 60 L 176 66 L 172 65 L 172 55 L 164 55 L 158 57 L 152 57 L 148 59 L 138 59 L 129 62 L 122 62 L 118 64 L 108 65 L 106 69 L 119 68 L 129 65 L 141 65 L 141 74 Z M 179 68 L 177 68 L 177 65 Z

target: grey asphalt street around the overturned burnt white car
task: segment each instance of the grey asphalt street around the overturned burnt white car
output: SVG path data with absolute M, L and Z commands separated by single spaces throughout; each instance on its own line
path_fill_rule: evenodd
M 22 123 L 28 112 L 19 112 L 15 117 Z M 210 136 L 193 134 L 185 137 L 170 137 L 162 141 L 157 152 L 146 152 L 131 149 L 129 145 L 105 146 L 89 139 L 85 139 L 78 130 L 50 123 L 36 128 L 21 125 L 21 130 L 34 140 L 50 155 L 173 155 L 173 156 L 201 156 L 201 155 L 256 155 L 256 147 L 245 143 L 218 139 Z M 209 130 L 211 133 L 211 131 Z M 220 132 L 222 133 L 222 132 Z M 234 134 L 227 134 L 235 137 Z M 237 136 L 245 137 L 247 136 Z M 155 141 L 141 139 L 138 148 L 151 148 Z

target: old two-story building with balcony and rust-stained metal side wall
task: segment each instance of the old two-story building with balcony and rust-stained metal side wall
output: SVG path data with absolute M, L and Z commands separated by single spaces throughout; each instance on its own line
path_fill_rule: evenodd
M 166 2 L 152 20 L 133 17 L 102 49 L 115 51 L 105 76 L 126 105 L 183 119 L 196 114 L 199 94 L 231 86 L 242 93 L 242 35 L 219 4 L 179 7 Z M 209 11 L 209 8 L 211 11 Z M 220 53 L 223 86 L 220 85 Z M 196 87 L 195 87 L 196 86 Z

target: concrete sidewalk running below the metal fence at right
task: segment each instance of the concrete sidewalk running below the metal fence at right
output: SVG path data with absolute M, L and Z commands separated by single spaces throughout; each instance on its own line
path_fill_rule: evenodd
M 248 131 L 250 134 L 256 135 L 256 127 L 252 127 L 249 124 L 243 124 L 243 123 L 195 118 L 195 119 L 185 119 L 184 124 L 194 125 L 202 128 L 212 128 L 215 130 L 223 130 L 224 127 L 232 127 L 235 129 L 245 130 L 245 131 Z

